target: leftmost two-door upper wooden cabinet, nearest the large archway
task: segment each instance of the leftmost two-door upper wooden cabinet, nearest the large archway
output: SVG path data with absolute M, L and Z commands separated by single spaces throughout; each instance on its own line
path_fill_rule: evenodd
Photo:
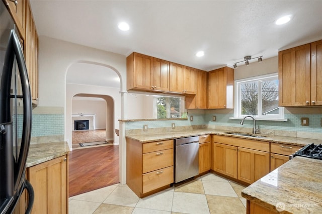
M 169 91 L 170 62 L 133 52 L 126 58 L 127 90 Z

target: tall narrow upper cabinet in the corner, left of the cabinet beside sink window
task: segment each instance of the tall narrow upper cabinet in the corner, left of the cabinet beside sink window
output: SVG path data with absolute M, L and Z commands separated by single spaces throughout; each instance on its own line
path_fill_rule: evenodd
M 207 76 L 206 71 L 196 69 L 196 95 L 186 97 L 187 109 L 207 108 Z

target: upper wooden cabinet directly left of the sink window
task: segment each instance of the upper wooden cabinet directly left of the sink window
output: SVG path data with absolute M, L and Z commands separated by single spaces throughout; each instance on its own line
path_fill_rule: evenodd
M 234 70 L 229 67 L 209 71 L 208 108 L 233 108 Z

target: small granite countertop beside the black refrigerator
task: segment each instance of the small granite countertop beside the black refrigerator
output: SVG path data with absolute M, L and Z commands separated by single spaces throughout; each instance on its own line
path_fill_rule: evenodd
M 46 162 L 69 153 L 67 142 L 31 144 L 26 167 Z

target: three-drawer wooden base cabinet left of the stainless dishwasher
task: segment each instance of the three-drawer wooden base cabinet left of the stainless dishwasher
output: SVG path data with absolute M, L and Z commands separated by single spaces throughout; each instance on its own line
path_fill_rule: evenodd
M 150 143 L 126 138 L 126 184 L 139 196 L 174 182 L 174 141 Z

